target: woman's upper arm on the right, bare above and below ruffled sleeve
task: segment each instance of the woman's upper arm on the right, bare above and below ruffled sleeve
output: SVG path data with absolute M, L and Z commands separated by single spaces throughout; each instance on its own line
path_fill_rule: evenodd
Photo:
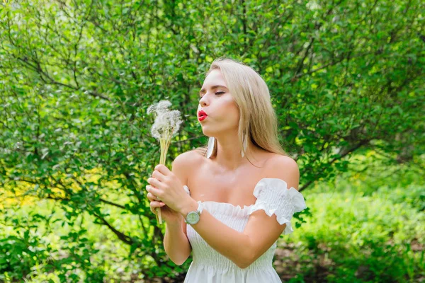
M 288 189 L 294 187 L 298 190 L 300 171 L 297 163 L 288 156 L 279 156 L 268 168 L 268 178 L 278 178 L 287 183 Z M 285 190 L 282 188 L 282 190 Z M 264 210 L 259 209 L 251 213 L 244 229 L 244 234 L 249 236 L 250 250 L 246 266 L 251 265 L 257 258 L 278 240 L 286 224 L 280 225 L 276 214 L 268 216 Z

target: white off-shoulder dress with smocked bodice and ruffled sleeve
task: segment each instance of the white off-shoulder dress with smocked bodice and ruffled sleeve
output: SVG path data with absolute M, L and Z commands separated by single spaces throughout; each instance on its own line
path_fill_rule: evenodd
M 187 186 L 186 192 L 190 194 Z M 276 214 L 279 224 L 286 224 L 283 234 L 293 232 L 290 219 L 295 212 L 307 208 L 304 197 L 294 187 L 288 190 L 287 183 L 278 178 L 263 178 L 254 188 L 257 198 L 249 206 L 235 207 L 227 202 L 198 201 L 203 209 L 222 223 L 239 232 L 244 231 L 249 215 L 263 209 L 268 216 Z M 202 214 L 201 214 L 202 221 Z M 184 283 L 281 283 L 273 268 L 273 255 L 277 240 L 255 262 L 244 269 L 238 267 L 232 260 L 211 248 L 203 238 L 186 224 L 188 240 L 193 251 L 193 261 L 188 269 Z

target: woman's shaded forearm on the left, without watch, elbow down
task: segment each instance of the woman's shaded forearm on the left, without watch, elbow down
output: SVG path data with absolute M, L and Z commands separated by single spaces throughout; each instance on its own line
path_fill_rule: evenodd
M 165 229 L 164 249 L 176 265 L 182 265 L 191 255 L 191 244 L 183 232 L 182 225 L 186 225 L 183 220 L 179 223 L 167 223 Z

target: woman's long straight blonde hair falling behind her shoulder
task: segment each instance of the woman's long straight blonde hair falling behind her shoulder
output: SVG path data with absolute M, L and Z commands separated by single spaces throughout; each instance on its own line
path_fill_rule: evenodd
M 221 71 L 227 88 L 239 108 L 238 137 L 242 151 L 244 150 L 243 137 L 245 135 L 261 149 L 288 156 L 280 145 L 276 112 L 271 105 L 267 84 L 261 76 L 242 62 L 224 57 L 212 62 L 205 77 L 215 69 Z M 205 156 L 207 146 L 198 147 L 196 150 Z M 212 156 L 216 155 L 217 139 L 215 139 L 212 151 Z

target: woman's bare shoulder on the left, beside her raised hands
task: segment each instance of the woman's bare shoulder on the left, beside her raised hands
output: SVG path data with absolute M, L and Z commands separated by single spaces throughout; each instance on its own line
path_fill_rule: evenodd
M 193 170 L 193 168 L 198 168 L 203 158 L 204 157 L 195 150 L 183 152 L 183 154 L 177 156 L 172 162 L 171 171 L 179 177 L 184 185 L 188 185 L 188 173 Z

